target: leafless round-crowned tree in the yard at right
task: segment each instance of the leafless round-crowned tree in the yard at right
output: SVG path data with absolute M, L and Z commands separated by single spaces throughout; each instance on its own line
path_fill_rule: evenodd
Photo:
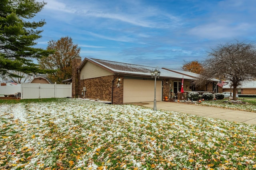
M 237 86 L 256 78 L 256 48 L 252 43 L 238 41 L 219 45 L 208 53 L 203 67 L 198 82 L 213 78 L 227 80 L 233 86 L 233 100 L 236 100 Z

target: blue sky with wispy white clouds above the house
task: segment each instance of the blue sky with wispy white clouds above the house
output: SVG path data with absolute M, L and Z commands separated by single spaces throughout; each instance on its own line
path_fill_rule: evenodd
M 256 0 L 44 0 L 36 47 L 69 36 L 80 56 L 181 69 L 217 45 L 256 39 Z

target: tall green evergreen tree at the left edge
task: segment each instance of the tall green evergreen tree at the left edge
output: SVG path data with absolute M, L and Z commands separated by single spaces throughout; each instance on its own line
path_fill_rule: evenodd
M 37 28 L 46 22 L 30 20 L 45 4 L 35 0 L 0 0 L 0 75 L 19 77 L 13 72 L 44 72 L 34 60 L 48 55 L 48 51 L 33 46 L 41 37 L 42 30 Z

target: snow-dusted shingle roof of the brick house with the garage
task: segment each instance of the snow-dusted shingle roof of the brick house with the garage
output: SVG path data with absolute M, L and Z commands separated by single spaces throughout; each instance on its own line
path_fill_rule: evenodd
M 184 79 L 189 79 L 189 80 L 196 79 L 196 77 L 194 76 L 195 74 L 191 74 L 191 72 L 185 72 L 185 71 L 180 71 L 180 70 L 176 70 L 176 72 L 174 72 L 174 71 L 170 71 L 170 70 L 163 69 L 163 68 L 155 68 L 155 67 L 150 67 L 150 66 L 120 63 L 120 62 L 115 62 L 115 61 L 106 61 L 106 60 L 92 59 L 92 58 L 84 59 L 81 66 L 79 67 L 79 69 L 82 67 L 82 65 L 85 63 L 85 61 L 90 61 L 92 63 L 95 63 L 95 64 L 109 70 L 110 72 L 113 72 L 114 74 L 127 74 L 127 75 L 134 75 L 134 76 L 151 77 L 150 71 L 157 69 L 161 72 L 161 74 L 160 74 L 161 78 L 179 78 L 179 79 L 184 78 Z M 191 76 L 191 75 L 193 75 L 193 76 Z

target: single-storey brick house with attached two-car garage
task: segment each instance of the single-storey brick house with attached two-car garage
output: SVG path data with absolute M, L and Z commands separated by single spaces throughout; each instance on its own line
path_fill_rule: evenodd
M 112 104 L 150 102 L 154 100 L 154 78 L 150 71 L 155 67 L 119 63 L 80 56 L 72 58 L 72 96 L 106 100 Z M 158 68 L 157 68 L 158 69 Z M 156 101 L 165 96 L 173 98 L 181 90 L 213 91 L 214 84 L 194 87 L 192 81 L 198 74 L 169 68 L 159 68 L 156 79 Z M 222 89 L 220 89 L 222 91 Z

